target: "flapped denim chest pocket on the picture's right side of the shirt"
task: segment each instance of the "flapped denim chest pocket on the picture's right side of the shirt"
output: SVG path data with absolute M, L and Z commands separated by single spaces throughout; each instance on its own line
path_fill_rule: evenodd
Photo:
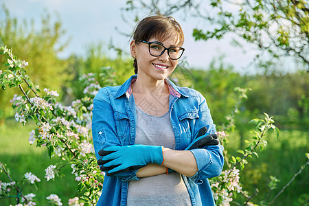
M 194 124 L 198 119 L 198 111 L 189 111 L 183 113 L 178 119 L 181 125 L 181 133 L 185 133 L 187 138 L 192 139 L 192 130 L 194 130 Z

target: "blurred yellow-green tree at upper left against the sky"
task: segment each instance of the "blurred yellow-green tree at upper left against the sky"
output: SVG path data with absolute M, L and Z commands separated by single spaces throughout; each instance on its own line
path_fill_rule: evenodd
M 68 41 L 60 43 L 60 38 L 65 34 L 60 21 L 51 23 L 49 14 L 42 16 L 39 30 L 35 30 L 34 21 L 20 23 L 16 18 L 11 17 L 9 11 L 3 6 L 5 19 L 0 19 L 0 45 L 6 45 L 14 49 L 14 54 L 21 60 L 29 63 L 27 74 L 31 76 L 34 84 L 40 84 L 40 89 L 48 87 L 57 90 L 60 95 L 61 89 L 66 87 L 70 79 L 66 72 L 64 60 L 57 56 L 67 45 Z M 1 59 L 0 62 L 4 62 Z M 5 69 L 1 65 L 1 69 Z M 25 86 L 26 87 L 26 86 Z M 0 119 L 12 115 L 10 100 L 14 92 L 1 91 L 0 93 Z

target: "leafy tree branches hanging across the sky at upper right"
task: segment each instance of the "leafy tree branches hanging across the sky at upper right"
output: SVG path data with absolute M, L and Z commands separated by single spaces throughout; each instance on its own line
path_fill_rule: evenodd
M 258 62 L 268 65 L 281 56 L 291 56 L 296 62 L 303 62 L 303 67 L 309 64 L 306 0 L 138 0 L 126 1 L 124 11 L 134 15 L 135 21 L 145 12 L 165 15 L 181 12 L 203 20 L 203 28 L 193 30 L 196 41 L 236 34 L 234 44 L 241 47 L 247 41 L 260 51 Z

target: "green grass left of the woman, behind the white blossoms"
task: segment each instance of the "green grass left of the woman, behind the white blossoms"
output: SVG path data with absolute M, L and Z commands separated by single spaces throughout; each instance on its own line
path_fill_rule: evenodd
M 63 205 L 67 205 L 69 198 L 78 196 L 75 188 L 77 182 L 75 176 L 71 174 L 70 166 L 62 168 L 60 177 L 54 181 L 45 179 L 45 169 L 56 164 L 59 160 L 55 157 L 50 159 L 45 148 L 36 148 L 30 146 L 28 137 L 30 131 L 35 128 L 35 124 L 30 122 L 26 126 L 14 122 L 14 119 L 8 119 L 5 124 L 0 126 L 0 161 L 5 163 L 10 169 L 10 176 L 14 181 L 23 177 L 25 172 L 32 172 L 41 179 L 38 183 L 38 191 L 33 186 L 27 186 L 23 194 L 36 194 L 37 205 L 46 205 L 46 197 L 49 194 L 57 194 L 61 198 Z M 0 180 L 10 182 L 4 173 L 0 173 Z M 0 199 L 0 205 L 15 205 L 14 198 Z

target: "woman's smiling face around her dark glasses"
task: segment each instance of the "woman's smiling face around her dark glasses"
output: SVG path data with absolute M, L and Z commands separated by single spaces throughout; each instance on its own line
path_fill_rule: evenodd
M 158 42 L 166 48 L 178 46 L 176 45 L 177 41 L 172 37 L 165 41 L 159 41 L 159 39 L 152 37 L 148 42 Z M 142 42 L 136 44 L 134 40 L 130 44 L 131 55 L 137 59 L 137 76 L 152 78 L 152 80 L 164 80 L 168 78 L 176 68 L 179 60 L 172 60 L 166 50 L 161 56 L 152 56 L 149 53 L 148 46 L 147 43 Z

